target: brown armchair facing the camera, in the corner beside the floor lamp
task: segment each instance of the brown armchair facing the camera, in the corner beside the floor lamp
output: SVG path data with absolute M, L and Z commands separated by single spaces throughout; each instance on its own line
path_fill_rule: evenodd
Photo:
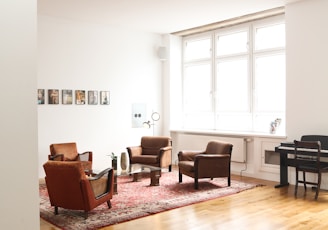
M 164 136 L 145 136 L 140 146 L 127 147 L 130 164 L 145 164 L 172 170 L 171 138 Z

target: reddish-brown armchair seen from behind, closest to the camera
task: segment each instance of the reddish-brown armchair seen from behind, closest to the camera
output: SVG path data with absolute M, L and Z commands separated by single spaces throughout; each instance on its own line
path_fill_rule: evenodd
M 88 177 L 84 173 L 81 162 L 78 161 L 48 161 L 43 165 L 46 173 L 45 181 L 48 189 L 51 206 L 83 210 L 85 218 L 100 204 L 113 197 L 114 172 L 107 168 L 102 172 Z

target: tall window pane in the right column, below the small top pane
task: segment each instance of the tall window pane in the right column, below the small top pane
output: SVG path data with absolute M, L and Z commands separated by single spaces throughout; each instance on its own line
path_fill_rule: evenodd
M 285 111 L 285 55 L 255 58 L 256 110 Z

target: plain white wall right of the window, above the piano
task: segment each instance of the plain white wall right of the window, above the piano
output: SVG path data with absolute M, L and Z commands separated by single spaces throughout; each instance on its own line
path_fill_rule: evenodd
M 328 135 L 328 1 L 286 7 L 287 113 L 290 140 Z

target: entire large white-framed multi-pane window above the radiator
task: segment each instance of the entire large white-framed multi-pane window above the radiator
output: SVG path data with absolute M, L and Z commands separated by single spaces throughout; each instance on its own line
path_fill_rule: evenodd
M 269 132 L 284 120 L 281 18 L 188 36 L 183 47 L 184 128 Z

